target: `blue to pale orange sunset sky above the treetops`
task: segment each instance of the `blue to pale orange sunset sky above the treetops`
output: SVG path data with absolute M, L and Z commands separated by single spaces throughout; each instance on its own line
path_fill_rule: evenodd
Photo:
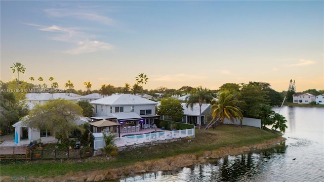
M 1 78 L 74 89 L 324 89 L 323 1 L 1 1 Z

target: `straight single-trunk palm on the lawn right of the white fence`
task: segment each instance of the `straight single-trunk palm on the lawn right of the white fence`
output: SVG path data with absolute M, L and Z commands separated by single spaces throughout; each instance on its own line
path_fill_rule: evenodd
M 209 89 L 198 86 L 191 94 L 186 98 L 186 107 L 193 108 L 193 104 L 199 103 L 199 124 L 198 130 L 200 131 L 201 126 L 201 106 L 203 103 L 210 103 L 213 100 L 213 96 Z

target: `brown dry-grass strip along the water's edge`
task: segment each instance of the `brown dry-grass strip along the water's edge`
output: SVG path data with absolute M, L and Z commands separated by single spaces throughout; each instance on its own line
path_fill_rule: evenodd
M 282 136 L 278 136 L 275 139 L 267 140 L 261 144 L 255 144 L 250 146 L 236 147 L 226 146 L 221 147 L 213 151 L 205 151 L 203 154 L 181 154 L 178 156 L 148 160 L 144 162 L 136 162 L 133 165 L 129 165 L 123 168 L 95 170 L 86 172 L 70 172 L 65 175 L 56 176 L 54 178 L 28 178 L 28 181 L 104 181 L 114 180 L 120 177 L 129 175 L 136 175 L 146 172 L 156 172 L 161 170 L 175 170 L 182 167 L 203 164 L 208 159 L 222 158 L 228 155 L 240 155 L 255 150 L 270 149 L 276 145 L 281 144 L 286 139 Z M 26 179 L 21 178 L 22 181 Z M 19 179 L 18 179 L 19 180 Z M 2 176 L 2 181 L 13 181 L 9 176 Z M 16 181 L 16 180 L 15 180 Z

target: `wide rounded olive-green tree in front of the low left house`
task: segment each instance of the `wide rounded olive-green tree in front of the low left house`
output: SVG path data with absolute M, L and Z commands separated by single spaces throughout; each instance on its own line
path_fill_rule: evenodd
M 83 131 L 75 124 L 82 116 L 82 108 L 74 102 L 64 99 L 49 100 L 44 105 L 36 105 L 30 110 L 24 123 L 38 130 L 46 129 L 55 133 L 60 143 L 67 143 L 75 129 Z

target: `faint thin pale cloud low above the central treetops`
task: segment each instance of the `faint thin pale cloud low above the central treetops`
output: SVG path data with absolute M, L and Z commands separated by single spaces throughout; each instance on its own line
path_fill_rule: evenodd
M 188 74 L 169 74 L 169 75 L 152 75 L 152 80 L 156 81 L 172 81 L 172 82 L 182 82 L 187 80 L 200 80 L 205 79 L 205 76 L 200 75 L 188 75 Z

